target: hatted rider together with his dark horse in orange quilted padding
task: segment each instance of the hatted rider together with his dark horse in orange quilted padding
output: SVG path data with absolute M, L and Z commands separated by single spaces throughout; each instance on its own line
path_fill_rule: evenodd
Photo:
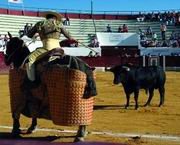
M 26 133 L 36 128 L 37 118 L 44 118 L 57 125 L 78 125 L 75 141 L 82 141 L 86 125 L 92 122 L 93 96 L 97 95 L 93 72 L 84 61 L 59 48 L 61 34 L 73 40 L 62 26 L 62 16 L 46 12 L 44 17 L 27 33 L 30 38 L 38 33 L 43 43 L 32 53 L 22 39 L 8 33 L 5 63 L 13 64 L 9 72 L 12 133 L 22 133 L 19 119 L 23 114 L 32 118 Z

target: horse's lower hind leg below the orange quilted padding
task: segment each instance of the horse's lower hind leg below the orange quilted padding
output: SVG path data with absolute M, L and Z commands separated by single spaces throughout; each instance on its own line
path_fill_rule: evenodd
M 74 142 L 83 142 L 86 135 L 86 125 L 80 125 Z

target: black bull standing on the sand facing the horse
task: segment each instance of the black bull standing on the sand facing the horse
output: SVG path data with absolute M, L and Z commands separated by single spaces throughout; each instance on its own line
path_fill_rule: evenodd
M 154 95 L 154 89 L 159 90 L 160 103 L 159 107 L 164 104 L 166 74 L 160 66 L 135 67 L 135 66 L 115 66 L 110 68 L 114 74 L 114 84 L 122 83 L 126 93 L 127 103 L 129 106 L 130 95 L 134 93 L 135 109 L 138 108 L 139 90 L 145 89 L 149 92 L 149 98 L 144 106 L 150 105 Z

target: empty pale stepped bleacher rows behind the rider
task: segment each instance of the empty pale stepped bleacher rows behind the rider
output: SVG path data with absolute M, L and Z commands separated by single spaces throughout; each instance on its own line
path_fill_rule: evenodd
M 19 36 L 19 30 L 24 29 L 26 23 L 35 24 L 42 17 L 33 16 L 17 16 L 0 14 L 0 34 L 4 35 L 11 32 L 13 36 Z M 110 24 L 112 31 L 117 32 L 118 27 L 126 24 L 129 32 L 138 33 L 138 29 L 146 30 L 151 26 L 152 30 L 157 33 L 158 38 L 161 39 L 160 23 L 159 22 L 137 22 L 136 20 L 93 20 L 92 19 L 72 19 L 70 18 L 70 26 L 65 26 L 71 35 L 80 42 L 88 45 L 91 36 L 96 32 L 105 32 L 107 24 Z M 169 38 L 173 30 L 177 30 L 175 26 L 167 26 L 167 38 Z M 63 37 L 61 39 L 64 39 Z

